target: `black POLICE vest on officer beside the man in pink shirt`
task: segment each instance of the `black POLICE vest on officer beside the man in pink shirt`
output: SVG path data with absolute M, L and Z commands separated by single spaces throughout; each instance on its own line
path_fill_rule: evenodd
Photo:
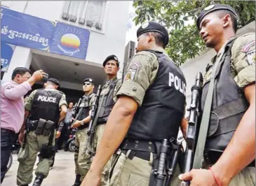
M 30 120 L 51 120 L 58 122 L 60 118 L 59 103 L 63 93 L 58 90 L 39 89 L 34 95 Z

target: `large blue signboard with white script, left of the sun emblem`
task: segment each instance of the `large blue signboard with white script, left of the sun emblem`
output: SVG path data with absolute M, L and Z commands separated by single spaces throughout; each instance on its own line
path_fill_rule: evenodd
M 1 7 L 1 41 L 26 48 L 48 50 L 54 22 Z

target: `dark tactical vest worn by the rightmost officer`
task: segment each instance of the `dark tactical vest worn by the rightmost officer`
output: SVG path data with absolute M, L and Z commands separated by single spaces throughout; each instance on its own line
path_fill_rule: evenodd
M 230 58 L 233 44 L 234 41 L 226 46 L 215 74 L 206 151 L 222 152 L 225 150 L 249 106 L 242 90 L 236 85 L 234 78 L 231 76 Z M 209 85 L 210 80 L 203 85 L 202 109 L 206 103 Z

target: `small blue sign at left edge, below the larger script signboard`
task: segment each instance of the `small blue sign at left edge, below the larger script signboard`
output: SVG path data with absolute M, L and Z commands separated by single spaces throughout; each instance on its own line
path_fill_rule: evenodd
M 15 46 L 1 42 L 1 71 L 6 72 L 13 57 Z

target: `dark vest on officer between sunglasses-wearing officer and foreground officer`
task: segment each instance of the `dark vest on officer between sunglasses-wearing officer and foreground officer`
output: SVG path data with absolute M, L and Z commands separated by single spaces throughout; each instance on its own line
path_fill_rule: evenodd
M 100 107 L 99 110 L 99 116 L 97 119 L 97 123 L 98 124 L 102 124 L 102 123 L 106 123 L 107 122 L 107 118 L 109 117 L 109 114 L 111 113 L 111 110 L 114 106 L 114 88 L 116 87 L 116 83 L 119 81 L 120 79 L 116 79 L 113 81 L 109 81 L 107 82 L 107 87 L 102 89 L 102 92 L 100 93 L 100 99 L 99 99 L 99 103 L 102 101 L 102 106 Z

